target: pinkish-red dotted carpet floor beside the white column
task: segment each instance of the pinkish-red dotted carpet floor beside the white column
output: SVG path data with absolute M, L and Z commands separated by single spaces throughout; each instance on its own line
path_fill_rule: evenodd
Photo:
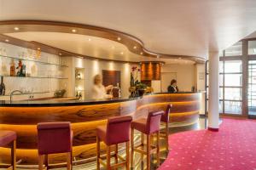
M 256 170 L 256 122 L 227 119 L 219 132 L 169 136 L 170 152 L 159 170 Z

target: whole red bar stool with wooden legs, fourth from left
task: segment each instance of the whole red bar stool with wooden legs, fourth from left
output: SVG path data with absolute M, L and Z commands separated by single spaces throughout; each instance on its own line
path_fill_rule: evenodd
M 147 155 L 147 169 L 150 169 L 150 155 L 156 150 L 157 165 L 160 165 L 160 118 L 164 114 L 164 111 L 150 112 L 148 118 L 141 118 L 131 122 L 131 167 L 133 167 L 133 155 L 134 151 Z M 134 129 L 142 133 L 142 144 L 134 146 Z M 151 145 L 151 135 L 156 133 L 156 145 Z M 140 150 L 139 147 L 143 147 L 143 134 L 147 135 L 147 150 Z

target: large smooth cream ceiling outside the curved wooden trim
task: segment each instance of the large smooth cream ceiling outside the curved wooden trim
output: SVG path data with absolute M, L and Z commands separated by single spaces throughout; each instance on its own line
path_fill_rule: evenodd
M 138 37 L 156 53 L 199 57 L 255 31 L 255 16 L 255 0 L 0 0 L 0 20 L 102 26 Z

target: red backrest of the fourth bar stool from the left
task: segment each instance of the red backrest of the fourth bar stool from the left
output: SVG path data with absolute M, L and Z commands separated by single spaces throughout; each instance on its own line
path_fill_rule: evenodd
M 150 112 L 147 119 L 147 133 L 155 133 L 160 130 L 160 120 L 164 111 Z

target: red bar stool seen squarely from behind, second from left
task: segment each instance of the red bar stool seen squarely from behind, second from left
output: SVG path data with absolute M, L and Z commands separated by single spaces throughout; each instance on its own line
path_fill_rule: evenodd
M 72 169 L 73 131 L 70 122 L 38 123 L 39 170 L 48 167 L 48 155 L 67 153 L 67 169 Z M 45 156 L 45 157 L 44 157 Z

